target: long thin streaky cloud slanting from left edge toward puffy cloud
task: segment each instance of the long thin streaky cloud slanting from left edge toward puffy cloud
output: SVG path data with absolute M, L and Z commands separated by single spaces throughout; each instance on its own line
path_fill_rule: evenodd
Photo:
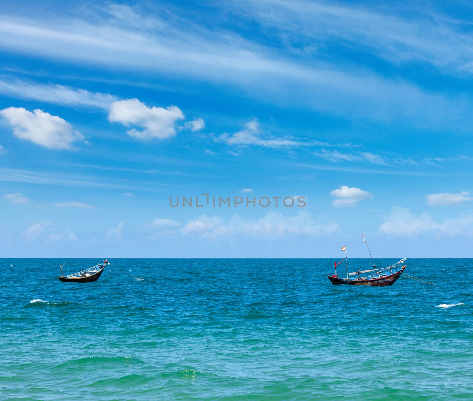
M 0 79 L 0 93 L 19 99 L 39 100 L 55 105 L 83 106 L 106 109 L 118 100 L 117 96 L 89 92 L 85 89 L 62 85 L 44 85 L 21 80 L 6 81 Z

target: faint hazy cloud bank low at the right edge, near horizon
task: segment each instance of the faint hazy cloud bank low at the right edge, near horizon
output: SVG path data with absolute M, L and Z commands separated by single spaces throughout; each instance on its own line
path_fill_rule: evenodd
M 427 232 L 445 235 L 472 235 L 473 213 L 462 213 L 458 218 L 446 218 L 437 223 L 428 212 L 423 212 L 419 217 L 416 217 L 409 209 L 393 206 L 386 221 L 379 226 L 379 231 L 390 236 L 408 236 L 410 238 Z

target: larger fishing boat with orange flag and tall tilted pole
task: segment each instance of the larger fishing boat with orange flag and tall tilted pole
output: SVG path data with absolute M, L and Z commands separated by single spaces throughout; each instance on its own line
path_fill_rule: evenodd
M 371 251 L 369 250 L 369 246 L 366 242 L 365 237 L 363 237 L 363 241 L 365 242 L 369 256 L 371 256 Z M 342 251 L 345 251 L 345 258 L 342 259 L 340 262 L 334 262 L 335 264 L 335 274 L 327 275 L 328 279 L 334 285 L 338 284 L 348 284 L 350 286 L 373 286 L 373 287 L 385 287 L 385 286 L 392 286 L 401 274 L 403 274 L 404 269 L 407 265 L 402 266 L 406 258 L 401 259 L 399 262 L 394 263 L 388 267 L 378 269 L 376 267 L 376 263 L 373 260 L 373 256 L 371 256 L 371 261 L 373 262 L 373 269 L 368 270 L 358 270 L 353 271 L 351 273 L 348 272 L 348 258 L 347 258 L 347 250 L 345 247 L 342 247 Z M 345 261 L 346 268 L 347 268 L 347 278 L 343 279 L 337 274 L 337 265 Z M 357 276 L 354 278 L 350 278 L 350 276 Z

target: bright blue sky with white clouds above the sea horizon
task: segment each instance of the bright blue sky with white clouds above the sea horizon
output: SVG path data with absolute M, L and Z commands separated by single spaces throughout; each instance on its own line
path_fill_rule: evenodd
M 0 257 L 471 257 L 471 3 L 0 10 Z

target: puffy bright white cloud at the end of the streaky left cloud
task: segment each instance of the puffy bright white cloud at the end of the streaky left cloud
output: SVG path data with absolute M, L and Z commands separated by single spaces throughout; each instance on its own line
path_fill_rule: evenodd
M 127 131 L 127 134 L 137 139 L 166 139 L 176 134 L 175 124 L 177 120 L 183 120 L 184 113 L 177 106 L 148 107 L 138 99 L 118 100 L 110 105 L 108 120 L 120 122 L 124 126 L 135 125 L 135 128 Z

